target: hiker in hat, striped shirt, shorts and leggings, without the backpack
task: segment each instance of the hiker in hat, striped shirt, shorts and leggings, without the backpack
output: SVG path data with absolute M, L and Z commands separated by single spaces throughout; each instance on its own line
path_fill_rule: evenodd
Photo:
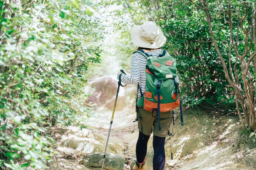
M 147 21 L 142 25 L 135 25 L 131 30 L 131 40 L 138 46 L 137 50 L 143 50 L 149 56 L 158 57 L 161 53 L 161 47 L 166 42 L 161 29 L 155 22 Z M 167 53 L 167 55 L 169 55 Z M 146 84 L 146 57 L 142 53 L 134 52 L 131 56 L 131 75 L 125 75 L 121 72 L 121 81 L 125 84 L 138 84 L 137 100 L 142 95 L 145 96 Z M 174 77 L 176 82 L 178 76 Z M 143 107 L 137 107 L 139 137 L 136 144 L 136 163 L 133 170 L 145 169 L 145 157 L 147 144 L 151 133 L 153 132 L 153 169 L 163 170 L 165 165 L 165 137 L 172 120 L 172 112 L 160 112 L 161 131 L 159 131 L 158 117 L 153 117 L 150 111 Z

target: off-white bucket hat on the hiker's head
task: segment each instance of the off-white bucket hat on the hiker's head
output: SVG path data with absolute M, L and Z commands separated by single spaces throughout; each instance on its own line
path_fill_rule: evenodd
M 152 49 L 160 48 L 166 42 L 162 30 L 152 21 L 146 21 L 142 25 L 134 25 L 131 30 L 131 38 L 135 45 Z

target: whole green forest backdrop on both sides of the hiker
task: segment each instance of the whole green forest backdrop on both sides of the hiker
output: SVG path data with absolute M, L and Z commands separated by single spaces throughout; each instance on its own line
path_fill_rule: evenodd
M 48 128 L 86 128 L 87 80 L 129 72 L 129 31 L 148 20 L 178 61 L 183 106 L 237 114 L 255 132 L 253 0 L 1 0 L 0 15 L 1 169 L 42 169 Z

